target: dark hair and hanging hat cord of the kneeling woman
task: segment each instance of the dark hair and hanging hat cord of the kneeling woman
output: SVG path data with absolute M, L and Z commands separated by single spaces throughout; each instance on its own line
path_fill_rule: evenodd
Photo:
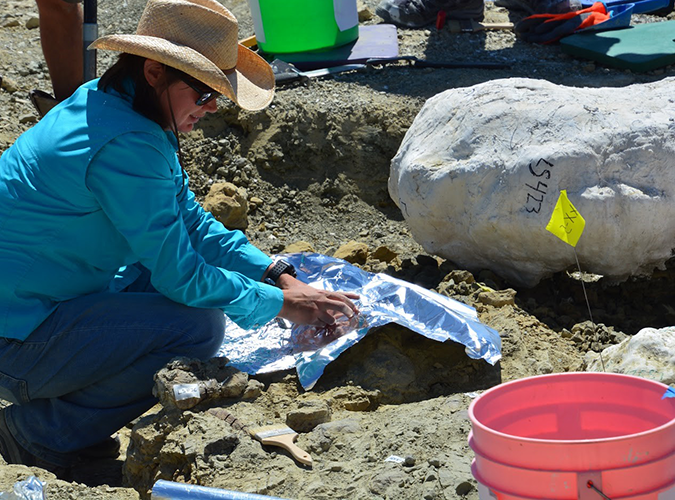
M 133 96 L 133 108 L 146 118 L 159 124 L 163 129 L 171 128 L 176 136 L 178 144 L 178 163 L 180 163 L 183 172 L 183 187 L 185 186 L 185 168 L 183 167 L 183 152 L 180 147 L 180 138 L 178 137 L 178 127 L 176 120 L 173 117 L 173 108 L 171 107 L 171 99 L 169 99 L 169 111 L 171 112 L 171 120 L 164 116 L 162 108 L 159 104 L 159 96 L 157 91 L 148 83 L 145 78 L 145 57 L 134 54 L 127 54 L 123 52 L 120 54 L 117 62 L 113 64 L 98 82 L 98 89 L 107 91 L 108 89 L 115 90 L 123 96 L 131 97 L 128 89 L 125 88 L 125 83 L 131 79 L 134 83 L 135 91 Z M 166 85 L 169 86 L 178 80 L 187 78 L 188 75 L 180 70 L 165 66 L 168 71 L 165 71 Z M 180 193 L 183 192 L 181 187 Z

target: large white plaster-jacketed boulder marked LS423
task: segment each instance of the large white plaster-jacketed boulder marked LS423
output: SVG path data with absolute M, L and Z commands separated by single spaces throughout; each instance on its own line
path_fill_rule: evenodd
M 546 230 L 566 190 L 586 220 L 582 268 L 612 280 L 648 275 L 675 248 L 673 82 L 511 78 L 447 90 L 408 130 L 389 192 L 427 252 L 534 285 L 576 267 Z

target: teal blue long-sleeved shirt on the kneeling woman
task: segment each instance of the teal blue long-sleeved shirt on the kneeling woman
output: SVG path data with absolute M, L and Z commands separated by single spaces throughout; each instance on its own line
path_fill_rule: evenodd
M 196 202 L 173 135 L 97 83 L 0 157 L 0 337 L 25 339 L 59 302 L 121 288 L 135 263 L 175 302 L 244 328 L 274 318 L 283 293 L 260 282 L 271 259 Z

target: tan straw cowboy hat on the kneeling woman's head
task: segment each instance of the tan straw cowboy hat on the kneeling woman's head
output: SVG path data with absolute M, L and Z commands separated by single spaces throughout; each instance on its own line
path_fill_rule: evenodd
M 237 43 L 237 19 L 215 0 L 149 0 L 135 35 L 109 35 L 90 49 L 146 57 L 179 69 L 248 110 L 267 106 L 274 73 Z

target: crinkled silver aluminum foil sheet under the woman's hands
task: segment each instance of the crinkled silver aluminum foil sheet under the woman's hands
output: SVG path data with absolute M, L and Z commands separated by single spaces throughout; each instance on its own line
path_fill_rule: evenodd
M 283 254 L 298 279 L 316 288 L 354 292 L 360 314 L 337 328 L 292 325 L 276 319 L 256 330 L 227 320 L 219 355 L 249 374 L 295 367 L 302 387 L 311 389 L 325 367 L 361 340 L 371 328 L 398 323 L 432 340 L 453 340 L 472 359 L 494 365 L 501 359 L 501 339 L 482 324 L 475 309 L 436 292 L 386 274 L 373 274 L 340 259 L 316 253 Z

